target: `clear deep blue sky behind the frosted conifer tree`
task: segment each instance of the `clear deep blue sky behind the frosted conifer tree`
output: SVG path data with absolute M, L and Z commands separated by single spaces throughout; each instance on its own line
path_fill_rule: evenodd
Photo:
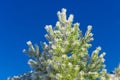
M 44 26 L 55 25 L 57 11 L 67 9 L 74 14 L 85 32 L 93 26 L 93 48 L 107 53 L 105 64 L 112 71 L 120 62 L 120 1 L 119 0 L 0 0 L 0 80 L 30 70 L 29 59 L 22 49 L 26 41 L 45 41 Z

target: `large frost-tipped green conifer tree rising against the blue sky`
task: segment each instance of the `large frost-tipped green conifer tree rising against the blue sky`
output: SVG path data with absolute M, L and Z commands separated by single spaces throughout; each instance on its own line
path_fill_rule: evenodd
M 29 49 L 23 50 L 32 57 L 28 64 L 33 72 L 8 80 L 110 80 L 104 64 L 105 52 L 99 54 L 101 47 L 98 46 L 90 55 L 92 26 L 88 25 L 83 34 L 79 23 L 73 23 L 74 16 L 70 14 L 67 18 L 66 9 L 58 11 L 57 15 L 55 27 L 45 27 L 48 43 L 41 43 L 42 50 L 31 41 L 27 42 Z M 120 66 L 115 74 L 120 76 Z

